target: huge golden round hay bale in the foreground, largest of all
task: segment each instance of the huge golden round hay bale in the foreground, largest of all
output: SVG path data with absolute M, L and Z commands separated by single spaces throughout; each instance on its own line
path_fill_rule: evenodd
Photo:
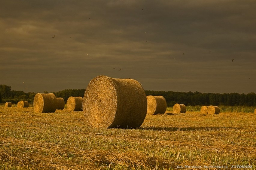
M 137 128 L 147 114 L 147 97 L 136 80 L 98 76 L 85 90 L 83 110 L 91 126 Z

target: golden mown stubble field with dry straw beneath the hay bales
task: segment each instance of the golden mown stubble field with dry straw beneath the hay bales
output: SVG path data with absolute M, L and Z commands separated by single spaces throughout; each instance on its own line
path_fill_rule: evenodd
M 66 108 L 35 113 L 32 107 L 0 105 L 0 122 L 0 169 L 252 165 L 255 170 L 254 113 L 169 111 L 147 115 L 138 129 L 105 129 L 87 126 L 81 112 Z

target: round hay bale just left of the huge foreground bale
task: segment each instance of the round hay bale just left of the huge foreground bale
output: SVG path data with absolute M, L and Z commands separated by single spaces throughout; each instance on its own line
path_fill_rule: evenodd
M 83 98 L 69 97 L 67 100 L 67 109 L 69 111 L 83 111 Z

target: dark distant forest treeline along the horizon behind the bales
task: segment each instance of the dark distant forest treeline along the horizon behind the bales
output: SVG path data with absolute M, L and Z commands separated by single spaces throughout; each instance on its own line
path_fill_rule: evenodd
M 70 96 L 84 97 L 85 89 L 66 89 L 54 93 L 56 97 L 62 97 L 67 102 Z M 48 93 L 45 91 L 44 93 Z M 200 92 L 173 92 L 145 90 L 146 95 L 163 96 L 167 106 L 172 107 L 175 103 L 184 105 L 226 105 L 226 106 L 256 106 L 256 94 L 239 93 L 200 93 Z M 0 103 L 17 103 L 26 100 L 33 103 L 36 93 L 11 90 L 11 86 L 0 85 Z

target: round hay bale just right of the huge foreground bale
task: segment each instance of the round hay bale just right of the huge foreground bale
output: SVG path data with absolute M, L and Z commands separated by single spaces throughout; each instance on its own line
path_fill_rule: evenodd
M 167 104 L 163 96 L 147 96 L 147 102 L 147 114 L 165 113 Z

